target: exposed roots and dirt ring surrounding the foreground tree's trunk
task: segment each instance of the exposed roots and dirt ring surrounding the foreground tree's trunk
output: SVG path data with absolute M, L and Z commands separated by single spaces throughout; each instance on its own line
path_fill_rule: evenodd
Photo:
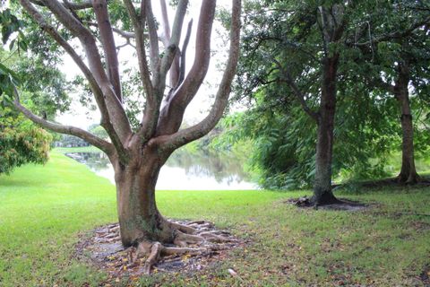
M 201 270 L 231 248 L 240 248 L 245 241 L 236 239 L 227 230 L 216 230 L 211 222 L 169 221 L 177 233 L 174 244 L 143 240 L 137 247 L 123 248 L 118 224 L 95 230 L 90 238 L 82 238 L 77 246 L 81 259 L 88 259 L 109 274 L 109 280 L 127 275 Z

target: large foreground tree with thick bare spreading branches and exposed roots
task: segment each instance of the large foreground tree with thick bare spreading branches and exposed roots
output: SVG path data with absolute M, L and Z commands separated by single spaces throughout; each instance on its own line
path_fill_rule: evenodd
M 170 222 L 159 213 L 155 186 L 159 170 L 169 155 L 180 146 L 209 133 L 228 104 L 239 54 L 241 1 L 233 0 L 228 62 L 211 110 L 200 123 L 185 129 L 180 129 L 185 109 L 202 85 L 209 67 L 216 1 L 202 1 L 193 65 L 187 74 L 185 49 L 191 25 L 188 26 L 183 47 L 179 48 L 188 4 L 186 0 L 179 0 L 176 4 L 171 29 L 166 4 L 161 1 L 161 35 L 157 30 L 151 1 L 140 4 L 132 0 L 112 2 L 116 8 L 126 11 L 126 17 L 117 23 L 131 22 L 133 30 L 127 31 L 113 25 L 115 22 L 111 20 L 116 17 L 115 10 L 106 0 L 79 3 L 20 0 L 20 4 L 40 29 L 55 39 L 81 69 L 101 113 L 100 125 L 106 129 L 110 142 L 80 128 L 63 126 L 35 115 L 22 105 L 18 90 L 14 92 L 15 108 L 40 126 L 81 137 L 106 152 L 115 170 L 121 241 L 125 247 L 138 246 L 142 252 L 150 253 L 147 271 L 160 252 L 188 250 L 167 248 L 162 244 L 175 243 L 184 247 L 188 242 L 203 240 L 202 236 L 193 235 L 193 228 Z M 132 129 L 125 113 L 114 37 L 116 33 L 127 38 L 135 47 L 145 99 L 141 125 L 136 130 Z M 73 48 L 73 39 L 81 43 L 86 61 L 80 57 L 80 50 Z M 159 39 L 163 49 L 159 48 Z M 206 234 L 205 237 L 213 239 L 216 236 Z

